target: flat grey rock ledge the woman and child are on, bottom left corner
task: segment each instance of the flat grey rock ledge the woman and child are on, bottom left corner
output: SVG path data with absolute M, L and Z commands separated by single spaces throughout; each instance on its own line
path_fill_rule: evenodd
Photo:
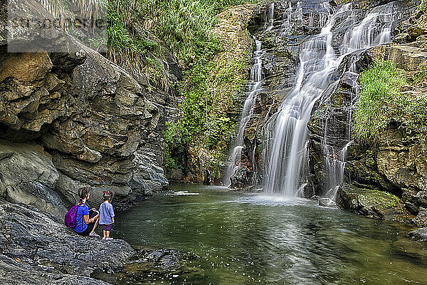
M 120 271 L 127 242 L 80 237 L 53 215 L 0 199 L 0 284 L 107 284 L 93 271 Z

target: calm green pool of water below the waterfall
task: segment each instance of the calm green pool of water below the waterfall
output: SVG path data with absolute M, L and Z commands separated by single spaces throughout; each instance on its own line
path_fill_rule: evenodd
M 154 195 L 118 213 L 112 237 L 193 252 L 199 258 L 187 265 L 195 270 L 138 284 L 427 284 L 425 246 L 399 224 L 305 199 L 201 185 L 172 190 L 201 195 Z

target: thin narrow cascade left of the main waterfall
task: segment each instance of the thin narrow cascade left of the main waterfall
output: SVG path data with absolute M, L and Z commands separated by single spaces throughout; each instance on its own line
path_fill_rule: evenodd
M 224 185 L 229 186 L 231 184 L 230 177 L 233 175 L 235 168 L 241 162 L 241 155 L 243 147 L 245 146 L 243 142 L 243 134 L 245 132 L 246 125 L 248 121 L 251 119 L 251 115 L 253 114 L 253 107 L 255 105 L 255 98 L 258 93 L 262 90 L 263 85 L 263 61 L 261 57 L 264 52 L 261 49 L 261 42 L 255 38 L 255 52 L 253 53 L 253 58 L 255 58 L 255 63 L 251 66 L 251 78 L 249 81 L 250 92 L 248 98 L 245 100 L 245 104 L 243 105 L 243 111 L 241 113 L 241 120 L 238 125 L 238 132 L 236 135 L 236 140 L 234 142 L 234 147 L 230 155 L 230 165 L 228 165 L 225 175 Z

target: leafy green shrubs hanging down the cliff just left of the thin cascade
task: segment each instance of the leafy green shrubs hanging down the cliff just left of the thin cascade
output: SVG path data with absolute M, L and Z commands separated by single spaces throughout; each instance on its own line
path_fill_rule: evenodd
M 202 1 L 211 5 L 218 14 L 230 4 L 249 0 Z M 206 8 L 206 7 L 205 7 Z M 209 9 L 208 9 L 209 10 Z M 209 10 L 211 11 L 211 10 Z M 248 77 L 252 41 L 241 19 L 249 19 L 253 7 L 238 6 L 214 17 L 218 24 L 208 26 L 206 38 L 199 38 L 194 48 L 195 57 L 189 58 L 189 68 L 184 71 L 180 84 L 184 100 L 179 105 L 181 120 L 167 125 L 164 135 L 173 162 L 186 156 L 191 164 L 192 150 L 206 150 L 209 171 L 220 175 L 218 166 L 226 159 L 228 145 L 236 131 L 236 115 L 241 99 L 236 98 L 239 88 Z M 211 12 L 209 12 L 211 13 Z M 192 48 L 190 48 L 192 49 Z M 173 165 L 174 163 L 172 163 Z

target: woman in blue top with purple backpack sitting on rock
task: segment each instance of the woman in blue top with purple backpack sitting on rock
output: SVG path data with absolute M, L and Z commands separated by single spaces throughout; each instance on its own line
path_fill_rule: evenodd
M 80 201 L 78 202 L 77 215 L 75 216 L 76 226 L 75 232 L 82 236 L 89 237 L 100 237 L 99 234 L 95 233 L 100 213 L 95 208 L 89 209 L 86 205 L 90 195 L 90 190 L 87 187 L 80 188 L 78 190 L 78 196 Z

